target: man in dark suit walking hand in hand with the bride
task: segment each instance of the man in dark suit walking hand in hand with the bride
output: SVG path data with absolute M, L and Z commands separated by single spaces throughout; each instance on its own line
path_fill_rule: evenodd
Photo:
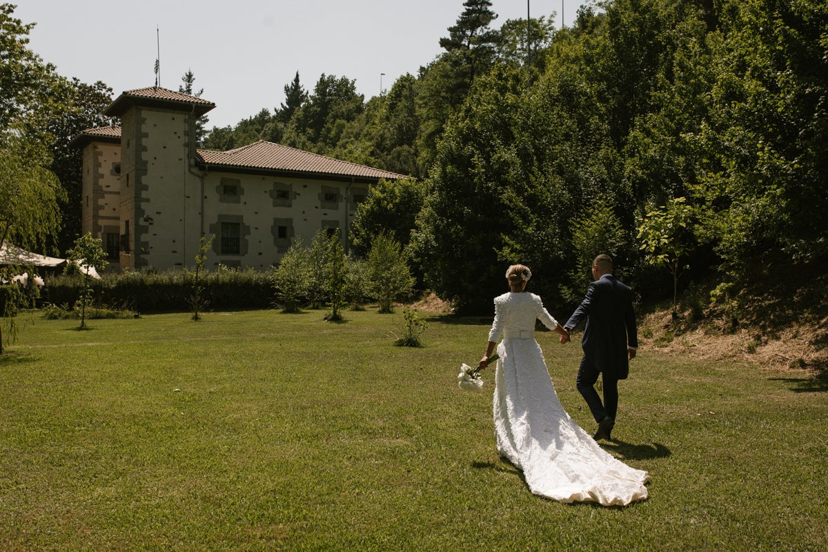
M 613 276 L 613 260 L 599 255 L 592 263 L 595 279 L 586 290 L 586 296 L 564 324 L 569 333 L 586 318 L 576 385 L 590 406 L 598 430 L 592 436 L 596 441 L 610 439 L 619 406 L 619 380 L 627 379 L 629 361 L 638 350 L 638 329 L 633 311 L 633 292 Z M 561 343 L 569 339 L 561 336 Z M 604 403 L 595 391 L 595 382 L 603 373 Z

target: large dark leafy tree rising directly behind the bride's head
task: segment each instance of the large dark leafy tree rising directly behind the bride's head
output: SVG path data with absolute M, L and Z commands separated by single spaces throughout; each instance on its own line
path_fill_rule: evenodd
M 522 86 L 519 71 L 505 66 L 479 78 L 445 127 L 426 179 L 428 195 L 412 234 L 412 256 L 425 271 L 426 286 L 460 311 L 488 310 L 503 287 L 503 262 L 523 261 L 523 252 L 532 250 L 532 244 L 514 247 L 521 241 L 514 234 L 516 223 L 548 222 L 527 213 L 549 204 L 546 197 L 540 204 L 532 201 L 537 199 L 530 197 L 533 190 L 547 190 L 545 180 L 559 179 L 532 175 L 537 136 L 521 130 L 533 115 L 516 94 Z M 545 233 L 546 226 L 539 232 Z

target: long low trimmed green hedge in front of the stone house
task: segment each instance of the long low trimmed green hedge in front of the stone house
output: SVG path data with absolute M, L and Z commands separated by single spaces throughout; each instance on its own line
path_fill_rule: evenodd
M 222 269 L 200 277 L 207 310 L 267 309 L 273 300 L 267 272 Z M 97 305 L 138 313 L 181 312 L 191 309 L 195 278 L 192 272 L 123 272 L 103 275 L 91 283 Z M 82 276 L 52 276 L 46 280 L 43 300 L 72 308 L 83 290 Z

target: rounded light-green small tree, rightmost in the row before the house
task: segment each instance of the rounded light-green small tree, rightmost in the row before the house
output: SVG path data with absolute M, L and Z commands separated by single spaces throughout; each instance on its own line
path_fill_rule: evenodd
M 394 312 L 394 301 L 411 292 L 414 279 L 400 244 L 387 234 L 374 238 L 368 252 L 368 290 L 382 314 Z

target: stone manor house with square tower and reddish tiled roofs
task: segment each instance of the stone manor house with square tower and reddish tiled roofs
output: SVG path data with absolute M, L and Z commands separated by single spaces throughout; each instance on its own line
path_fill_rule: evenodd
M 368 187 L 406 178 L 272 142 L 230 151 L 195 146 L 195 122 L 215 104 L 150 87 L 128 90 L 105 114 L 120 127 L 90 128 L 83 151 L 82 233 L 100 238 L 109 269 L 205 266 L 264 270 L 294 241 L 349 226 Z

